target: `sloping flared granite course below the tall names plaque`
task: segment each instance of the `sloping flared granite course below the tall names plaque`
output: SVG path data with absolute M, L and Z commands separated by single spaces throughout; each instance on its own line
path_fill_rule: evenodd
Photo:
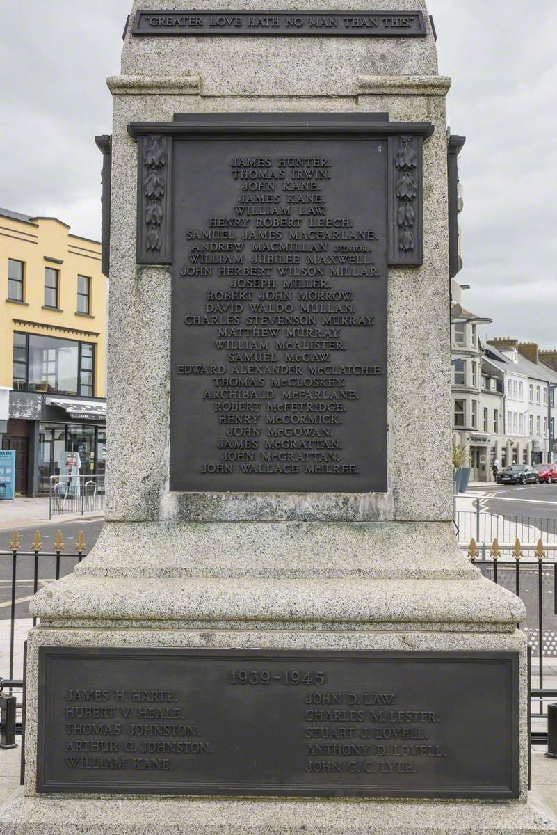
M 466 579 L 474 568 L 449 522 L 107 522 L 75 574 Z

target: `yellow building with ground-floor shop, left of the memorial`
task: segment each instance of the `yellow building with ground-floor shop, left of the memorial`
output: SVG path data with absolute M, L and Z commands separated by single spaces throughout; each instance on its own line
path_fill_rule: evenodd
M 0 437 L 16 492 L 48 492 L 63 456 L 103 473 L 107 279 L 101 245 L 0 209 Z

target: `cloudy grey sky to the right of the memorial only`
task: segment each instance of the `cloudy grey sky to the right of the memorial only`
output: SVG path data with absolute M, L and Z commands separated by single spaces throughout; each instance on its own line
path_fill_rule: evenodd
M 429 0 L 448 112 L 467 137 L 464 303 L 489 336 L 552 347 L 557 312 L 557 26 L 553 0 Z

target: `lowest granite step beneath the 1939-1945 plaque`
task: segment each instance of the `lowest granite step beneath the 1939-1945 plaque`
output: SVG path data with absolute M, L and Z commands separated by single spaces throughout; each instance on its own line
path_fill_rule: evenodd
M 0 810 L 0 835 L 554 835 L 537 802 L 322 802 L 158 797 L 23 797 Z

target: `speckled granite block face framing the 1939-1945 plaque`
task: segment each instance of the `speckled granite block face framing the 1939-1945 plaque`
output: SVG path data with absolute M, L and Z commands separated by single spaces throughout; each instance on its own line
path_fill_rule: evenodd
M 350 631 L 309 632 L 294 625 L 289 630 L 218 630 L 206 629 L 53 629 L 43 625 L 31 630 L 28 640 L 28 715 L 26 725 L 26 793 L 35 792 L 37 752 L 37 696 L 38 696 L 38 647 L 39 646 L 121 646 L 121 647 L 216 647 L 255 649 L 324 649 L 324 650 L 416 650 L 416 651 L 484 651 L 518 652 L 520 701 L 519 701 L 519 750 L 520 750 L 520 801 L 498 804 L 519 805 L 527 798 L 528 785 L 528 721 L 527 721 L 527 660 L 526 640 L 514 630 L 504 634 L 454 634 L 443 628 L 436 632 L 424 632 L 419 624 L 408 631 L 394 633 L 362 633 Z M 161 802 L 160 800 L 158 802 Z M 172 803 L 172 801 L 168 801 Z M 255 803 L 255 801 L 253 801 Z M 375 802 L 374 802 L 375 803 Z M 68 804 L 70 805 L 70 804 Z M 163 804 L 165 805 L 165 804 Z M 346 817 L 339 814 L 339 803 L 328 802 L 336 810 L 338 825 L 347 825 Z M 373 804 L 372 804 L 373 805 Z M 493 804 L 483 804 L 492 808 Z M 480 806 L 481 807 L 481 806 Z M 351 807 L 352 808 L 352 807 Z M 425 804 L 424 808 L 429 808 Z M 467 807 L 468 808 L 468 807 Z M 2 816 L 0 815 L 0 821 Z M 362 830 L 365 832 L 366 830 Z M 0 828 L 0 835 L 2 829 Z

